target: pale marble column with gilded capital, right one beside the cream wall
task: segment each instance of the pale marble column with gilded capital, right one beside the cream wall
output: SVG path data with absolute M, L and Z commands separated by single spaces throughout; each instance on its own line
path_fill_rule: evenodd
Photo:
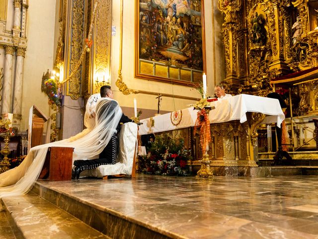
M 16 49 L 14 98 L 13 98 L 13 124 L 14 124 L 13 126 L 16 126 L 18 128 L 21 121 L 24 56 L 25 56 L 25 49 L 18 47 Z

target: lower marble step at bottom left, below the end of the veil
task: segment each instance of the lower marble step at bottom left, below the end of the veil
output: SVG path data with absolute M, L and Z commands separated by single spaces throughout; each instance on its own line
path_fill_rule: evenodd
M 32 192 L 2 198 L 2 204 L 16 238 L 110 239 Z

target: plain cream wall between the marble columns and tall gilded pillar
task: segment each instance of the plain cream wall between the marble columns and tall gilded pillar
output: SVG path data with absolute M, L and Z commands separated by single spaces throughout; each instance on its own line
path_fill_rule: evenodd
M 41 92 L 43 73 L 52 69 L 56 0 L 31 0 L 28 8 L 27 48 L 24 61 L 21 130 L 28 127 L 29 109 L 36 105 L 47 117 L 48 98 Z M 44 129 L 45 131 L 45 129 Z

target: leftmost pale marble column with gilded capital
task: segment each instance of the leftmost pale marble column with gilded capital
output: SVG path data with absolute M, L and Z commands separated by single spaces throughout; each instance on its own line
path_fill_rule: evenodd
M 12 61 L 14 47 L 5 45 L 4 79 L 2 90 L 2 114 L 11 113 Z

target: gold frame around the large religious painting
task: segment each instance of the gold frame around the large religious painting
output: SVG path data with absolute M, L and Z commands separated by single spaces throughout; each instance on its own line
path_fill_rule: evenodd
M 200 0 L 201 2 L 201 30 L 202 30 L 202 61 L 203 61 L 203 71 L 201 72 L 195 72 L 190 73 L 192 74 L 191 79 L 192 81 L 184 81 L 180 79 L 173 79 L 173 78 L 167 78 L 167 77 L 161 77 L 156 75 L 147 75 L 140 73 L 140 64 L 139 64 L 139 48 L 140 48 L 140 35 L 139 35 L 139 25 L 140 25 L 140 9 L 139 4 L 140 0 L 135 1 L 135 77 L 146 79 L 146 80 L 153 80 L 153 81 L 159 81 L 159 82 L 165 82 L 165 83 L 172 83 L 172 84 L 178 84 L 178 85 L 186 85 L 186 86 L 193 86 L 195 83 L 201 82 L 201 75 L 203 72 L 206 72 L 206 56 L 205 56 L 205 27 L 204 27 L 204 0 Z M 162 67 L 167 67 L 167 71 L 169 70 L 169 67 L 174 64 L 174 60 L 171 59 L 169 61 L 153 61 L 163 64 Z M 178 62 L 175 63 L 175 71 L 179 71 L 179 76 L 181 73 L 182 65 Z M 192 68 L 189 68 L 192 69 Z M 195 74 L 195 75 L 194 75 Z M 196 79 L 196 81 L 193 81 L 193 78 Z M 200 79 L 199 79 L 200 78 Z

